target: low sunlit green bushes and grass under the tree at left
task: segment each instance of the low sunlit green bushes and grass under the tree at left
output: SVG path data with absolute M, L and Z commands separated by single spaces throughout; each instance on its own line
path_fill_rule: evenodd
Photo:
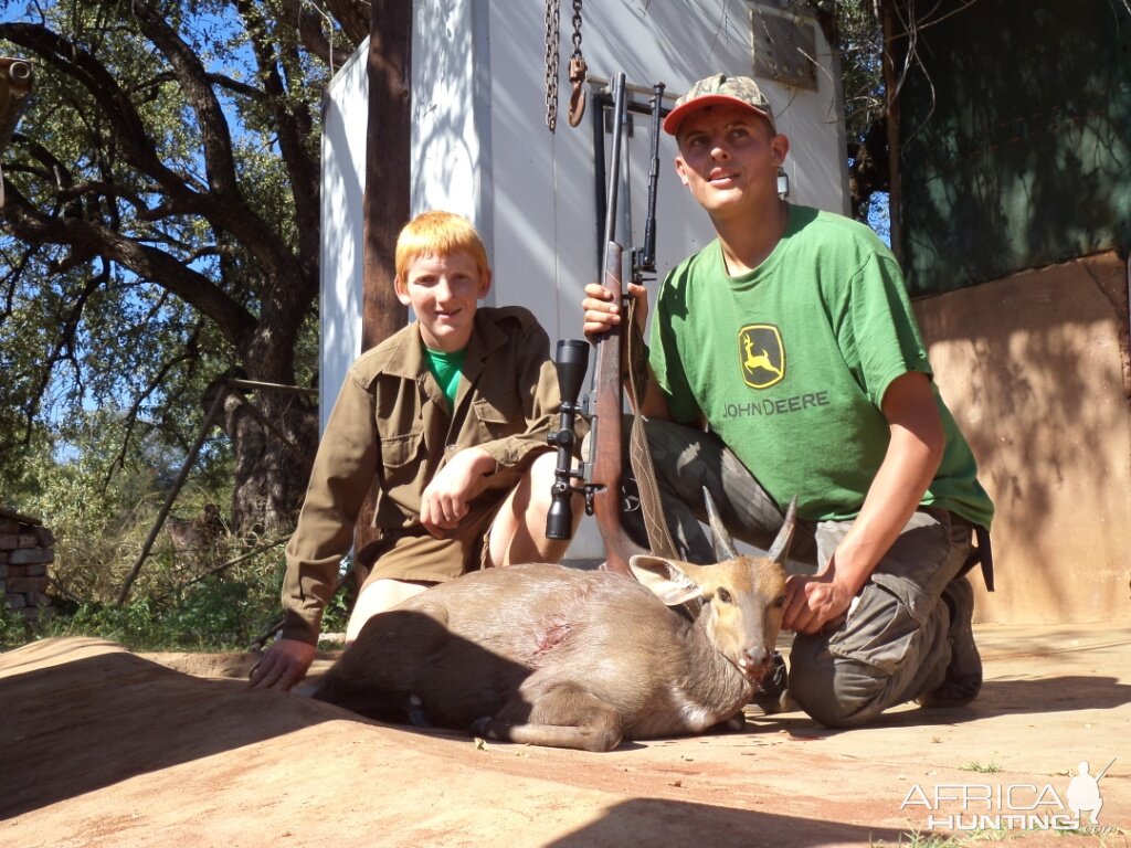
M 24 475 L 0 479 L 0 502 L 40 518 L 54 535 L 49 594 L 57 604 L 40 620 L 0 609 L 0 649 L 48 637 L 100 637 L 130 650 L 245 650 L 282 615 L 285 562 L 282 538 L 243 538 L 221 518 L 185 550 L 170 527 L 176 517 L 202 517 L 208 504 L 227 503 L 228 459 L 214 451 L 198 462 L 180 490 L 173 513 L 148 551 L 127 603 L 118 596 L 167 499 L 180 457 L 154 449 L 148 461 L 119 466 L 112 412 L 71 422 L 63 451 L 42 443 L 28 449 Z M 164 470 L 157 470 L 164 469 Z M 347 590 L 329 604 L 325 632 L 342 632 Z

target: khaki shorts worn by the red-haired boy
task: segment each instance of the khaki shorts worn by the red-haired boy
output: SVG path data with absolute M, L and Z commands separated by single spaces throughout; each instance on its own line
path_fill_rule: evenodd
M 489 488 L 472 502 L 467 517 L 444 538 L 438 539 L 420 526 L 385 531 L 357 554 L 359 566 L 369 570 L 362 589 L 374 580 L 443 582 L 485 568 L 491 528 L 524 473 L 506 469 L 492 475 Z

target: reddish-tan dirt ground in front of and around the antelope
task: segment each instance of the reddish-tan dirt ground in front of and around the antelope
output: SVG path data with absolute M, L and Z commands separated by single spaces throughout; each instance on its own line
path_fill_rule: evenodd
M 0 654 L 0 846 L 1131 845 L 1131 626 L 976 630 L 969 708 L 851 732 L 752 708 L 607 754 L 254 692 L 250 656 L 36 642 Z M 1112 761 L 1098 825 L 1034 829 L 1067 827 L 1080 761 Z

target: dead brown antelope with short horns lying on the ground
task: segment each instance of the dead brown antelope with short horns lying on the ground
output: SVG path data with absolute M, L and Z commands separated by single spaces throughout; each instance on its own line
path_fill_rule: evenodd
M 639 582 L 547 564 L 475 571 L 373 616 L 314 698 L 587 751 L 741 717 L 782 626 L 795 507 L 766 556 L 739 555 L 708 511 L 715 565 L 633 556 Z M 693 622 L 668 608 L 697 600 Z

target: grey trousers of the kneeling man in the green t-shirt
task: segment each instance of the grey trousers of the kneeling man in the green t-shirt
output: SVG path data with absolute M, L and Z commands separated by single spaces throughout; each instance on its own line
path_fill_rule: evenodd
M 782 508 L 713 433 L 664 421 L 646 424 L 672 539 L 689 562 L 713 562 L 700 521 L 702 490 L 736 539 L 766 550 L 784 521 Z M 851 521 L 801 521 L 789 559 L 820 571 Z M 639 512 L 625 529 L 644 543 Z M 851 613 L 815 634 L 797 633 L 789 693 L 829 727 L 865 724 L 889 707 L 939 687 L 950 663 L 950 612 L 942 600 L 970 552 L 973 527 L 943 509 L 920 509 L 877 565 Z M 961 578 L 965 579 L 965 578 Z

